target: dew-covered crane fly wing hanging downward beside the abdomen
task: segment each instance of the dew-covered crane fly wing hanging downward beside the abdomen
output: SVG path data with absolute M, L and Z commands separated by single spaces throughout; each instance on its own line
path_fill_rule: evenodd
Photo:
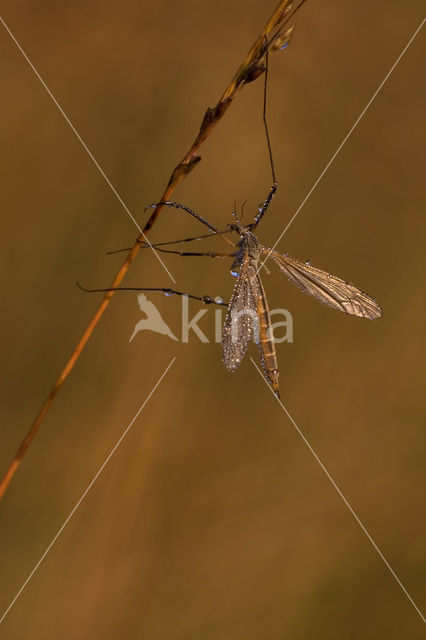
M 253 338 L 255 323 L 258 322 L 258 297 L 256 270 L 249 264 L 246 252 L 222 331 L 222 360 L 228 371 L 238 369 Z

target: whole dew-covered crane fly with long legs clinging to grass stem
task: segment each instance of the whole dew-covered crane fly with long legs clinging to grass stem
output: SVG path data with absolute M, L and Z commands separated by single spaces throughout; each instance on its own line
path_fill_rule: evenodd
M 355 287 L 349 282 L 345 282 L 337 276 L 333 276 L 327 271 L 323 271 L 311 266 L 309 263 L 290 258 L 286 254 L 278 253 L 273 249 L 268 249 L 262 245 L 253 233 L 259 222 L 262 220 L 265 212 L 274 198 L 278 183 L 275 175 L 274 162 L 272 158 L 272 149 L 269 139 L 268 125 L 266 121 L 266 86 L 268 76 L 268 49 L 271 43 L 265 38 L 264 47 L 261 50 L 260 58 L 264 58 L 265 72 L 264 97 L 263 97 L 263 123 L 265 127 L 265 135 L 268 146 L 269 160 L 271 164 L 273 184 L 268 195 L 258 208 L 253 222 L 247 226 L 243 226 L 238 219 L 235 211 L 234 217 L 236 224 L 228 226 L 224 231 L 219 231 L 213 224 L 205 218 L 197 214 L 189 207 L 179 204 L 178 202 L 161 201 L 149 205 L 147 208 L 157 208 L 159 206 L 174 207 L 182 211 L 186 211 L 196 218 L 204 226 L 208 227 L 210 233 L 196 238 L 185 238 L 184 240 L 174 240 L 168 243 L 160 243 L 158 245 L 149 245 L 159 251 L 166 253 L 178 253 L 182 256 L 210 256 L 210 257 L 227 257 L 232 256 L 234 262 L 231 267 L 231 273 L 238 277 L 235 284 L 234 292 L 228 305 L 228 313 L 225 318 L 222 333 L 222 358 L 228 371 L 236 371 L 240 366 L 244 355 L 247 351 L 251 340 L 256 342 L 261 356 L 261 362 L 265 372 L 265 377 L 271 385 L 274 393 L 279 396 L 278 389 L 278 364 L 275 353 L 274 338 L 272 334 L 272 323 L 268 309 L 268 303 L 265 296 L 262 281 L 259 276 L 259 270 L 263 266 L 260 259 L 263 255 L 271 258 L 278 268 L 287 276 L 294 285 L 302 289 L 305 293 L 309 293 L 322 304 L 333 309 L 343 311 L 344 313 L 358 316 L 360 318 L 368 318 L 374 320 L 380 318 L 382 310 L 379 304 L 366 293 Z M 227 233 L 237 232 L 240 240 L 235 245 L 226 237 Z M 231 254 L 216 253 L 213 251 L 194 252 L 194 251 L 174 251 L 162 248 L 163 245 L 178 244 L 192 240 L 200 240 L 201 238 L 210 237 L 212 235 L 220 236 L 222 240 L 226 240 L 236 251 Z M 145 246 L 148 246 L 147 244 Z M 180 291 L 165 288 L 132 288 L 124 287 L 120 290 L 138 290 L 138 291 L 162 291 L 167 295 L 177 294 L 188 296 L 190 298 L 201 300 L 205 304 L 220 304 L 226 306 L 222 300 L 211 298 L 210 296 L 195 296 Z M 87 289 L 86 289 L 87 290 Z M 115 291 L 117 289 L 114 289 Z M 95 291 L 92 289 L 92 291 Z M 101 289 L 97 291 L 110 291 L 110 289 Z

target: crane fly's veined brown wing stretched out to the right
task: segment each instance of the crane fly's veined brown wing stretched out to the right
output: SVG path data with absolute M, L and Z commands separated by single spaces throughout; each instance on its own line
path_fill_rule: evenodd
M 265 247 L 262 251 L 268 253 L 269 249 Z M 290 282 L 328 307 L 370 320 L 382 316 L 376 300 L 350 282 L 277 251 L 272 251 L 270 255 Z

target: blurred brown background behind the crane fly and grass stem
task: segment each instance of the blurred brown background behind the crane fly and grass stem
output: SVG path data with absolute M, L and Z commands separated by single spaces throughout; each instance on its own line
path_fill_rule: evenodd
M 275 6 L 5 0 L 2 15 L 142 221 Z M 420 0 L 308 2 L 271 61 L 279 192 L 271 245 L 423 17 Z M 375 295 L 378 322 L 264 276 L 294 318 L 285 406 L 426 609 L 424 30 L 279 248 Z M 136 229 L 0 29 L 5 469 Z M 242 91 L 175 193 L 218 226 L 271 182 L 262 83 Z M 145 214 L 146 215 L 146 214 Z M 163 212 L 151 241 L 202 233 Z M 206 247 L 223 250 L 218 240 Z M 164 256 L 178 289 L 229 298 L 229 263 Z M 128 285 L 171 286 L 150 252 Z M 179 334 L 181 301 L 148 296 Z M 200 305 L 190 303 L 191 315 Z M 212 335 L 214 310 L 200 322 Z M 1 504 L 3 611 L 172 359 L 176 361 L 10 611 L 1 637 L 423 638 L 424 625 L 247 357 L 140 333 L 113 300 Z M 254 347 L 251 354 L 257 358 Z

